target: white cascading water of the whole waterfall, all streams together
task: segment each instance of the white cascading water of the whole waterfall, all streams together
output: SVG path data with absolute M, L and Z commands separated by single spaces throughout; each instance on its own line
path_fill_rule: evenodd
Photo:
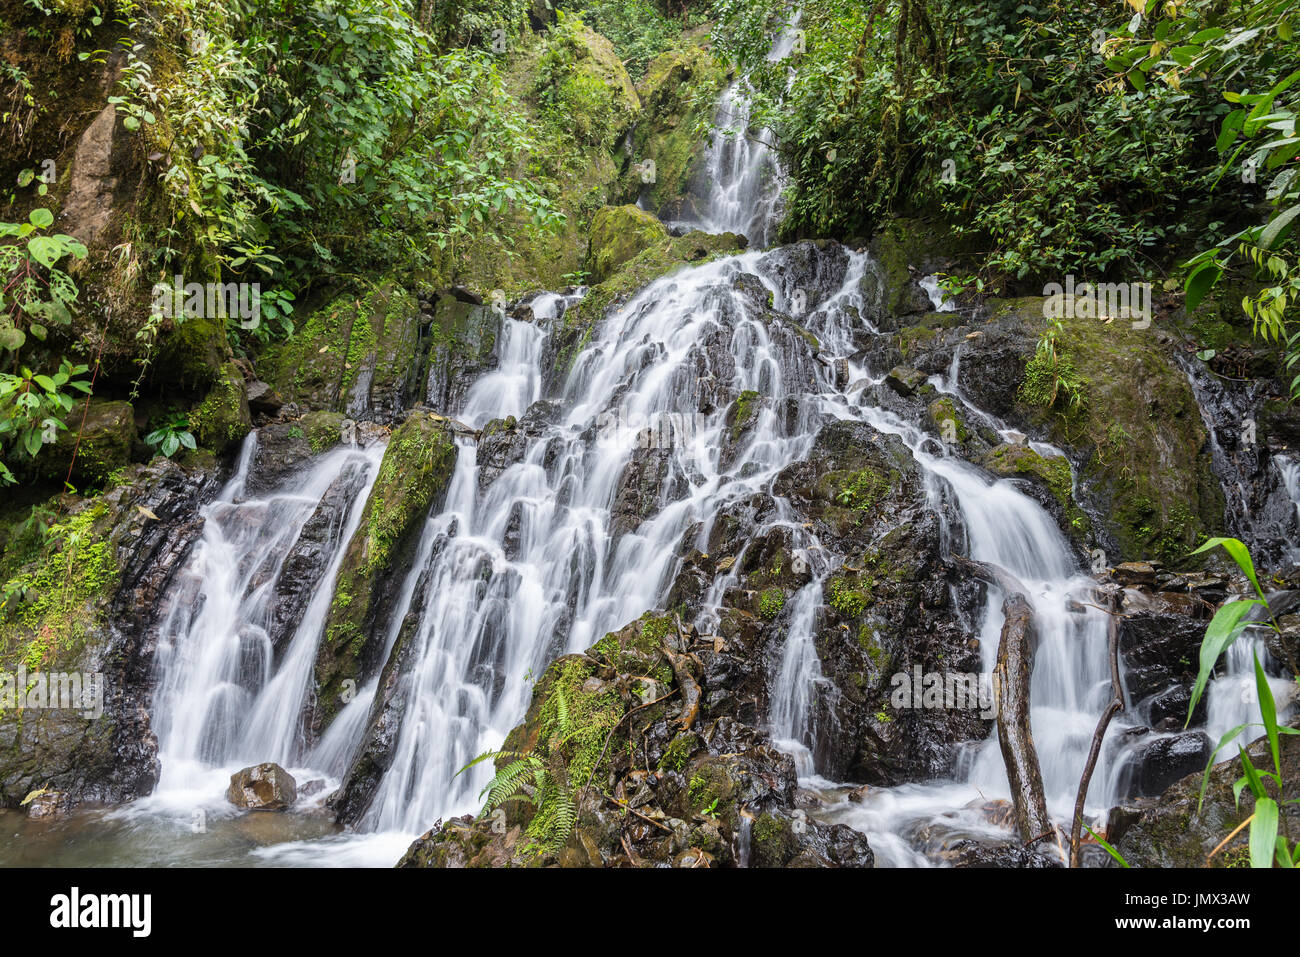
M 793 26 L 774 48 L 775 59 L 783 46 L 789 52 Z M 723 107 L 731 116 L 724 125 L 737 133 L 711 147 L 707 225 L 742 231 L 760 247 L 777 211 L 779 169 L 768 147 L 746 137 L 750 111 L 740 87 L 724 94 Z M 824 584 L 838 559 L 827 558 L 811 528 L 774 493 L 774 482 L 809 455 L 820 425 L 853 420 L 898 437 L 910 450 L 931 507 L 941 519 L 953 512 L 961 521 L 950 541 L 1024 584 L 1039 631 L 1031 718 L 1044 789 L 1053 815 L 1069 819 L 1109 696 L 1108 624 L 1105 614 L 1088 606 L 1092 580 L 1079 573 L 1046 512 L 1013 484 L 991 480 L 915 424 L 866 404 L 871 390 L 859 386 L 880 380 L 842 356 L 875 332 L 859 319 L 867 257 L 841 254 L 837 289 L 805 313 L 792 306 L 800 290 L 790 287 L 779 254 L 746 252 L 651 283 L 597 328 L 554 403 L 540 402 L 546 341 L 581 293 L 534 298 L 532 322 L 502 319 L 495 371 L 474 384 L 459 410 L 442 411 L 474 428 L 515 416 L 526 447 L 500 468 L 480 462 L 472 439 L 458 439 L 445 503 L 426 519 L 385 636 L 382 659 L 395 666 L 396 690 L 385 701 L 380 676 L 370 679 L 309 753 L 302 718 L 312 661 L 342 545 L 355 531 L 356 506 L 374 481 L 382 450 L 337 450 L 274 493 L 246 497 L 251 438 L 235 477 L 209 506 L 204 537 L 164 619 L 155 706 L 160 796 L 212 800 L 233 768 L 257 761 L 343 779 L 368 744 L 376 709 L 390 707 L 396 724 L 386 729 L 393 735 L 386 770 L 356 822 L 367 835 L 363 843 L 378 848 L 363 859 L 390 863 L 395 848 L 437 819 L 477 809 L 490 767 L 458 772 L 476 754 L 499 746 L 520 720 L 530 679 L 559 654 L 585 649 L 663 607 L 680 555 L 706 546 L 724 510 L 758 493 L 774 507 L 750 540 L 783 529 L 794 559 L 809 571 L 783 618 L 786 636 L 770 675 L 768 723 L 777 745 L 794 757 L 800 778 L 826 784 L 814 754 L 835 729 L 816 727 L 814 703 L 837 692 L 823 675 L 815 633 Z M 755 307 L 746 285 L 754 277 L 760 294 L 776 309 L 798 313 L 806 332 Z M 930 293 L 937 295 L 937 282 Z M 819 356 L 809 350 L 807 333 L 819 341 Z M 1010 429 L 961 395 L 959 358 L 958 350 L 946 378 L 935 384 L 972 419 L 1010 437 Z M 766 400 L 745 437 L 729 443 L 723 437 L 728 410 L 745 391 Z M 634 460 L 638 443 L 654 455 Z M 620 506 L 629 469 L 644 472 L 641 486 L 654 489 L 647 514 L 629 516 Z M 346 492 L 330 518 L 321 579 L 290 635 L 276 640 L 272 603 L 286 557 L 330 490 L 339 489 Z M 742 558 L 710 585 L 696 622 L 701 631 L 716 624 L 715 610 L 737 584 Z M 985 671 L 996 655 L 1001 605 L 1002 596 L 988 589 L 972 627 Z M 1231 715 L 1221 705 L 1232 692 L 1219 685 L 1212 685 L 1210 724 L 1226 728 Z M 1124 727 L 1115 722 L 1110 740 Z M 1118 749 L 1102 749 L 1089 815 L 1113 802 L 1122 758 Z M 930 822 L 1005 837 L 1005 830 L 970 809 L 1008 793 L 996 741 L 972 748 L 961 768 L 961 780 L 874 789 L 859 805 L 836 806 L 831 817 L 866 832 L 880 863 L 931 863 L 911 839 Z M 748 818 L 741 840 L 748 846 Z M 295 862 L 341 856 L 329 841 L 277 853 Z

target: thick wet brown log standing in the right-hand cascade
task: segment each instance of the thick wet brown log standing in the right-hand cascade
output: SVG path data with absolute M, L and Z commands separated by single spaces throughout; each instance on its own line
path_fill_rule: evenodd
M 1020 840 L 1030 844 L 1056 833 L 1043 794 L 1043 770 L 1030 727 L 1030 676 L 1034 674 L 1034 653 L 1037 648 L 1034 609 L 1026 597 L 1024 585 L 1005 568 L 961 557 L 952 560 L 971 577 L 997 586 L 1004 596 L 1002 636 L 997 645 L 997 666 L 993 668 L 997 744 L 1011 784 L 1015 827 Z

